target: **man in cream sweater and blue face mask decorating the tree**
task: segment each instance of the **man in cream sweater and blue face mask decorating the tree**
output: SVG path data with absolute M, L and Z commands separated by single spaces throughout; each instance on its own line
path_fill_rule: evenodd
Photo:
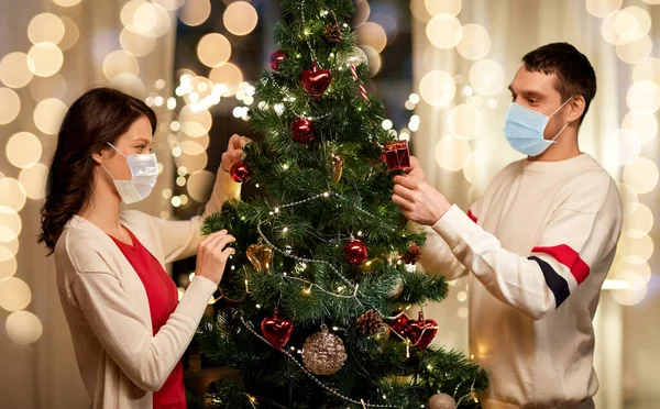
M 593 408 L 592 320 L 622 230 L 616 184 L 578 144 L 596 77 L 566 43 L 522 63 L 504 133 L 528 158 L 502 170 L 468 214 L 415 158 L 393 201 L 432 226 L 426 270 L 472 272 L 470 350 L 491 378 L 483 407 Z

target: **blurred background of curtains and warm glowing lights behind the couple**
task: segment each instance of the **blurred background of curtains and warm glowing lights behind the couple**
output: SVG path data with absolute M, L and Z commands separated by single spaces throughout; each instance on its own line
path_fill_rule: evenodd
M 411 146 L 462 208 L 520 156 L 502 134 L 521 56 L 568 41 L 596 68 L 583 151 L 618 183 L 625 225 L 596 317 L 598 408 L 660 399 L 660 0 L 355 0 L 352 25 L 385 100 L 382 126 Z M 229 135 L 250 134 L 255 82 L 275 49 L 276 0 L 24 0 L 0 4 L 0 393 L 9 407 L 86 407 L 53 259 L 36 245 L 59 123 L 110 85 L 160 118 L 156 189 L 134 208 L 187 218 L 208 199 Z M 253 194 L 246 191 L 248 195 Z M 172 267 L 185 294 L 194 261 Z M 428 306 L 439 342 L 466 346 L 466 281 Z M 487 347 L 487 345 L 484 345 Z M 201 358 L 187 371 L 204 384 Z M 195 378 L 197 374 L 201 380 Z

